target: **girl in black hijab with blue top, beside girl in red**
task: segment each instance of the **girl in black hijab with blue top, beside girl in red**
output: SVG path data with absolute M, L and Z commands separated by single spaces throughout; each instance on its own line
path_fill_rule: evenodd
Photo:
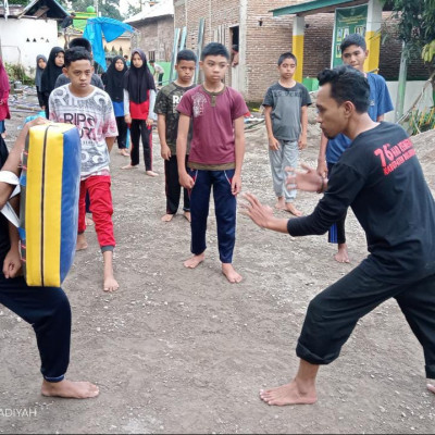
M 113 110 L 116 116 L 117 125 L 117 148 L 122 156 L 129 156 L 127 151 L 127 124 L 124 119 L 124 89 L 123 78 L 127 72 L 125 59 L 122 55 L 113 58 L 112 63 L 108 67 L 108 72 L 103 76 L 104 90 L 109 94 Z

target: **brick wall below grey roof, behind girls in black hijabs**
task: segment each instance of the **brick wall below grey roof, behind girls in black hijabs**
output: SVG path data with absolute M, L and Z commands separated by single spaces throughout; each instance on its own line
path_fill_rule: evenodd
M 140 48 L 149 57 L 150 51 L 156 51 L 156 61 L 171 61 L 172 46 L 174 44 L 174 20 L 172 16 L 146 20 L 132 23 L 139 30 L 132 38 L 132 49 Z

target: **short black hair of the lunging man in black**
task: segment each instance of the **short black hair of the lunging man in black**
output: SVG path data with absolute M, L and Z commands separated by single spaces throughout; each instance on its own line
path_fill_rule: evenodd
M 370 86 L 364 74 L 349 65 L 325 69 L 318 75 L 319 85 L 331 85 L 331 97 L 341 104 L 351 101 L 358 113 L 369 109 Z

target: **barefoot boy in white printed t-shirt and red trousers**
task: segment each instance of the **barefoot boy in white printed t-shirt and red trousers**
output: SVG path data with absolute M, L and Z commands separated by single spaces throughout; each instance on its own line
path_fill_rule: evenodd
M 98 243 L 104 259 L 103 288 L 104 291 L 114 291 L 119 284 L 113 275 L 115 239 L 109 152 L 117 136 L 116 119 L 109 95 L 90 84 L 94 67 L 88 51 L 83 48 L 66 50 L 63 70 L 71 84 L 51 92 L 50 120 L 76 125 L 82 138 L 77 250 L 88 247 L 85 238 L 85 196 L 88 190 Z

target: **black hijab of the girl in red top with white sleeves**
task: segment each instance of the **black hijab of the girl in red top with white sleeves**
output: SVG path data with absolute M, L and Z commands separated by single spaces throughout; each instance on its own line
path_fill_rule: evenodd
M 144 62 L 139 69 L 133 64 L 135 53 L 139 54 Z M 149 89 L 156 90 L 154 78 L 149 71 L 147 57 L 138 48 L 132 51 L 132 63 L 129 70 L 124 75 L 124 89 L 128 90 L 129 100 L 136 104 L 147 101 Z

